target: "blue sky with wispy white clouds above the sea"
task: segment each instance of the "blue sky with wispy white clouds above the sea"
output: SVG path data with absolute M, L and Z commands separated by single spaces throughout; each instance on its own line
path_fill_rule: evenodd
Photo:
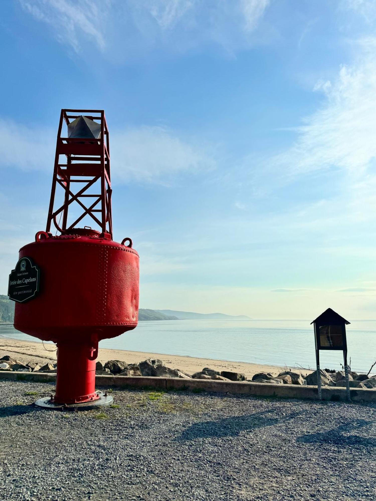
M 61 108 L 104 109 L 140 306 L 376 318 L 376 4 L 2 4 L 1 289 L 46 224 Z

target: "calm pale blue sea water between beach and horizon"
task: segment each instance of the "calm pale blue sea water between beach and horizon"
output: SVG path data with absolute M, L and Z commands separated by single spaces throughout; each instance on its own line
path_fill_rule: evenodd
M 346 332 L 351 369 L 368 371 L 376 360 L 376 321 L 353 321 Z M 0 325 L 0 336 L 36 341 L 12 326 Z M 313 328 L 302 320 L 140 322 L 133 331 L 101 341 L 100 347 L 315 368 Z M 339 369 L 341 362 L 341 352 L 320 352 L 322 368 Z

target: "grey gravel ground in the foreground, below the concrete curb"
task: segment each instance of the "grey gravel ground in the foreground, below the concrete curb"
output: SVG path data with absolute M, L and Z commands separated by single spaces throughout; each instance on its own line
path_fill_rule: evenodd
M 376 496 L 376 404 L 118 390 L 112 408 L 33 406 L 53 390 L 0 380 L 2 499 Z

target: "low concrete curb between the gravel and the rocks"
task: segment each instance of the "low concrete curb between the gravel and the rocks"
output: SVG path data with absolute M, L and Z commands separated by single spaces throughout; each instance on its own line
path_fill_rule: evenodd
M 35 381 L 48 383 L 56 381 L 56 374 L 44 372 L 1 371 L 0 379 L 13 381 Z M 216 393 L 234 393 L 259 397 L 298 398 L 318 400 L 317 386 L 295 384 L 254 383 L 250 381 L 215 381 L 209 379 L 180 379 L 161 377 L 96 376 L 97 386 L 117 388 L 144 388 L 157 390 L 199 390 Z M 376 402 L 376 389 L 350 388 L 353 402 Z M 322 399 L 346 401 L 346 388 L 324 386 Z

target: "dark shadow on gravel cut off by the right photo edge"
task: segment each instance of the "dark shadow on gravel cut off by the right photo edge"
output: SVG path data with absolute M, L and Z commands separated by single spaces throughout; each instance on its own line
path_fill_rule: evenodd
M 330 443 L 333 445 L 351 447 L 353 447 L 354 445 L 361 445 L 363 447 L 376 447 L 376 438 L 374 438 L 373 436 L 364 437 L 353 434 L 354 431 L 359 430 L 360 428 L 363 428 L 364 431 L 368 431 L 368 429 L 370 429 L 370 427 L 374 423 L 376 423 L 376 421 L 354 419 L 353 421 L 348 421 L 347 423 L 342 424 L 337 428 L 333 428 L 329 431 L 302 435 L 301 437 L 297 438 L 296 441 L 302 443 Z

